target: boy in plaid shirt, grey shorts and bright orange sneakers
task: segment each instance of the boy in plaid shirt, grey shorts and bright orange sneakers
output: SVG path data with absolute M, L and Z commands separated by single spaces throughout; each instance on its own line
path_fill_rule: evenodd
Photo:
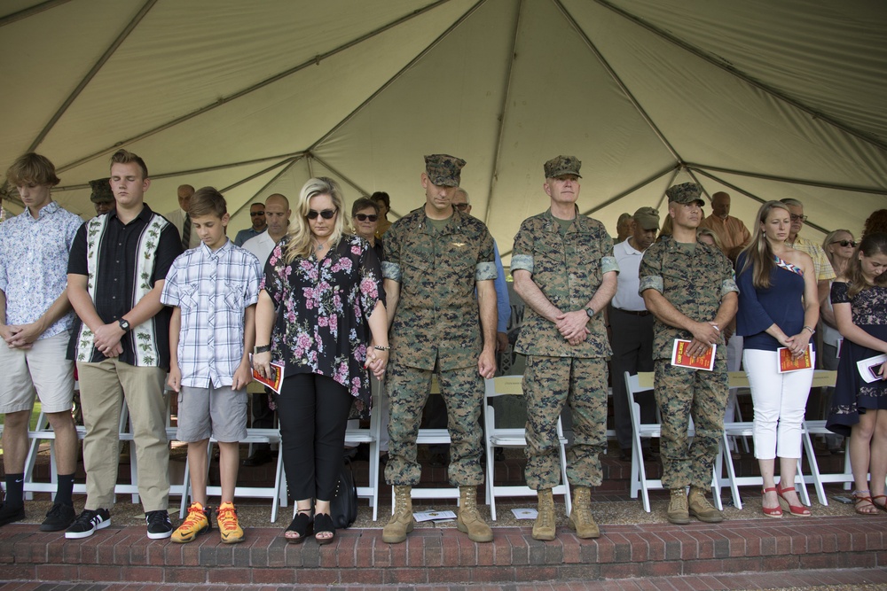
M 247 435 L 249 353 L 255 341 L 259 260 L 225 236 L 229 215 L 221 193 L 204 187 L 191 198 L 200 245 L 169 268 L 161 302 L 172 306 L 169 387 L 178 393 L 177 439 L 188 443 L 193 502 L 172 534 L 184 543 L 211 529 L 207 508 L 208 439 L 219 445 L 222 498 L 216 521 L 222 541 L 243 541 L 234 509 L 239 440 Z

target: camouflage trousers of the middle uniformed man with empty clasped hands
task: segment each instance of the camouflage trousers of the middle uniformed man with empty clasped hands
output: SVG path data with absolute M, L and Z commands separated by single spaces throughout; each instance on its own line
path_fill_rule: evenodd
M 564 404 L 573 417 L 573 445 L 567 449 L 570 486 L 600 486 L 600 454 L 607 450 L 607 362 L 602 358 L 527 358 L 523 374 L 527 400 L 527 486 L 561 483 L 557 419 Z

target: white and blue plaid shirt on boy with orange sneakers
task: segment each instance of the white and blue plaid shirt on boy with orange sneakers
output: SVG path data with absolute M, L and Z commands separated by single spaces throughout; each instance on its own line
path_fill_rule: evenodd
M 166 277 L 161 302 L 182 311 L 178 367 L 182 385 L 232 385 L 243 357 L 244 310 L 259 298 L 262 266 L 231 240 L 182 253 Z

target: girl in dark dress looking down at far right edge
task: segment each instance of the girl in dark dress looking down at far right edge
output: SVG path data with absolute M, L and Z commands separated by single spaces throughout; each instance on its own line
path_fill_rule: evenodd
M 832 284 L 831 301 L 844 336 L 826 427 L 850 436 L 850 463 L 856 512 L 873 515 L 885 508 L 887 478 L 887 363 L 862 378 L 857 362 L 887 354 L 887 234 L 866 234 L 844 276 Z M 871 473 L 871 485 L 868 474 Z

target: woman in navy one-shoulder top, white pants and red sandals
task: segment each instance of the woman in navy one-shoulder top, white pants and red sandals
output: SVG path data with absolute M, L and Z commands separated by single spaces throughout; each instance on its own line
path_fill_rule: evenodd
M 755 407 L 755 457 L 764 479 L 762 505 L 767 517 L 782 517 L 783 503 L 791 515 L 810 515 L 797 498 L 795 474 L 813 359 L 809 369 L 781 373 L 777 350 L 786 347 L 795 359 L 807 353 L 819 319 L 819 298 L 812 259 L 785 244 L 790 226 L 788 207 L 768 201 L 758 210 L 754 237 L 736 261 L 737 333 L 743 337 L 742 365 Z

